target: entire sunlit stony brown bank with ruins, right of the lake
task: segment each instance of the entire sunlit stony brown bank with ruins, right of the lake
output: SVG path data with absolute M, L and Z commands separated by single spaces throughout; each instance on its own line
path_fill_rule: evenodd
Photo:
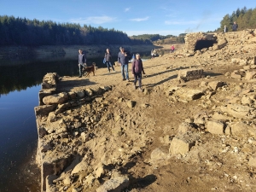
M 46 74 L 35 108 L 42 191 L 254 191 L 255 34 L 188 34 L 143 62 L 143 91 L 119 67 Z M 204 40 L 212 46 L 195 49 Z

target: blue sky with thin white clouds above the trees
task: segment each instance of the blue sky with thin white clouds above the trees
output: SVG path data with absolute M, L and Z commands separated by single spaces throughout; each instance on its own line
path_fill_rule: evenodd
M 131 35 L 207 32 L 255 0 L 0 0 L 0 15 L 102 26 Z

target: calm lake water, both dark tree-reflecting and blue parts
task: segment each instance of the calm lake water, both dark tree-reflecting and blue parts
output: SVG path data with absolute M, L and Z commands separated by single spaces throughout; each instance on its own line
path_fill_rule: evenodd
M 150 53 L 142 54 L 143 59 Z M 38 131 L 34 107 L 46 73 L 78 76 L 77 60 L 0 60 L 0 192 L 38 191 L 39 169 L 34 162 Z M 102 58 L 88 59 L 90 66 L 106 67 Z M 32 179 L 33 178 L 33 179 Z

